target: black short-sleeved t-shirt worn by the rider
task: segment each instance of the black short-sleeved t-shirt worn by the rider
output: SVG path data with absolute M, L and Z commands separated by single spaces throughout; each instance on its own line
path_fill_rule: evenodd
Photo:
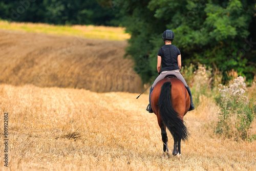
M 162 71 L 172 71 L 180 69 L 178 66 L 178 55 L 180 50 L 174 45 L 164 45 L 158 51 L 158 56 L 162 58 Z

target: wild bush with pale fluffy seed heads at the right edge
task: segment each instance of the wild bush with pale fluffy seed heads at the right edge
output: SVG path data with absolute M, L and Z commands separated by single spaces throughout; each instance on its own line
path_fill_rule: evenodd
M 250 124 L 255 115 L 255 103 L 250 107 L 250 100 L 244 96 L 246 84 L 243 77 L 233 80 L 230 86 L 219 85 L 217 103 L 221 113 L 218 117 L 216 133 L 235 140 L 252 140 L 255 135 L 249 135 Z M 253 138 L 254 137 L 254 138 Z

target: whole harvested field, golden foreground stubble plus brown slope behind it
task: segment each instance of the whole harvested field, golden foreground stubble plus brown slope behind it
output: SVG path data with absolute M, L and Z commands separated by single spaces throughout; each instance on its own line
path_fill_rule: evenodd
M 184 117 L 182 160 L 162 158 L 125 41 L 0 32 L 0 127 L 8 113 L 9 136 L 7 168 L 2 131 L 0 170 L 256 170 L 256 142 L 214 134 L 219 108 L 203 95 Z

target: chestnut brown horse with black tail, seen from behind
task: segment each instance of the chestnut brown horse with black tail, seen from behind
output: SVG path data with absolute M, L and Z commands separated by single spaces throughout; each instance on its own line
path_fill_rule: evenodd
M 170 157 L 167 147 L 167 127 L 174 138 L 173 155 L 177 155 L 180 160 L 181 140 L 186 140 L 189 136 L 183 117 L 189 110 L 190 98 L 183 82 L 174 77 L 160 80 L 151 93 L 151 105 L 161 128 L 163 157 L 165 155 Z

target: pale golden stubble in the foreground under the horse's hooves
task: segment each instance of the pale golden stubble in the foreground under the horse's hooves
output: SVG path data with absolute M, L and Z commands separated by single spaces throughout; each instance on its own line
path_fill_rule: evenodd
M 184 117 L 191 136 L 178 161 L 162 159 L 156 116 L 145 111 L 148 95 L 7 84 L 0 85 L 0 95 L 0 113 L 9 114 L 9 170 L 256 169 L 256 142 L 213 134 L 219 109 L 205 96 Z M 3 157 L 0 162 L 6 170 Z

